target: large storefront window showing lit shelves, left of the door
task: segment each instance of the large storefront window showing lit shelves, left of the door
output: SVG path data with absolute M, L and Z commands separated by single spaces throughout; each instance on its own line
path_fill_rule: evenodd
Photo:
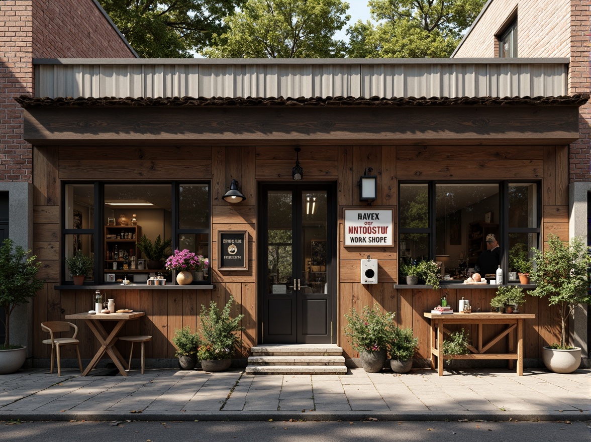
M 92 258 L 85 281 L 94 284 L 145 284 L 152 276 L 171 282 L 164 261 L 177 248 L 210 257 L 209 184 L 67 183 L 63 202 L 65 284 L 73 280 L 66 259 L 77 251 Z

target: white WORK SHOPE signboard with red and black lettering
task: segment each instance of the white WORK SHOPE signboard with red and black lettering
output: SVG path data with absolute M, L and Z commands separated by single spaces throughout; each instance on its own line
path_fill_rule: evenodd
M 345 246 L 394 246 L 392 209 L 345 209 Z

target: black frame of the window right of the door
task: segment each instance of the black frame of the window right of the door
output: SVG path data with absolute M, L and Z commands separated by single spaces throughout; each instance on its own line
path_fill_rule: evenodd
M 534 184 L 536 186 L 536 226 L 532 228 L 509 227 L 509 184 Z M 428 185 L 428 228 L 410 229 L 400 227 L 400 187 L 404 184 L 427 184 Z M 400 255 L 400 236 L 404 233 L 427 233 L 428 239 L 428 259 L 436 260 L 436 185 L 437 184 L 498 184 L 499 186 L 499 239 L 502 245 L 501 268 L 504 275 L 509 271 L 509 233 L 537 233 L 537 245 L 540 249 L 541 238 L 541 220 L 542 220 L 542 196 L 541 180 L 399 180 L 398 181 L 398 232 L 397 254 Z M 500 221 L 502 220 L 502 222 Z M 399 256 L 400 258 L 400 256 Z M 400 268 L 400 266 L 399 266 Z M 508 278 L 505 276 L 505 284 L 508 284 Z M 448 281 L 441 281 L 449 283 Z M 453 281 L 452 281 L 453 282 Z

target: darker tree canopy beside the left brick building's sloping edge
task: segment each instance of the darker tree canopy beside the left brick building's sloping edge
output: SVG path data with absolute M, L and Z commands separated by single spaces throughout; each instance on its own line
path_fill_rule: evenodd
M 192 58 L 244 0 L 99 0 L 140 57 Z

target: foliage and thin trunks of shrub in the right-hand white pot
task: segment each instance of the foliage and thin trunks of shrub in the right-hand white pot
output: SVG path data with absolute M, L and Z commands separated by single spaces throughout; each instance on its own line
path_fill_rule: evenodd
M 560 314 L 560 347 L 566 346 L 566 330 L 569 316 L 577 304 L 591 303 L 587 291 L 587 266 L 590 262 L 588 248 L 579 236 L 570 242 L 562 242 L 556 235 L 548 235 L 548 247 L 543 253 L 534 252 L 535 267 L 531 277 L 537 287 L 531 295 L 548 298 L 549 306 L 557 306 Z

